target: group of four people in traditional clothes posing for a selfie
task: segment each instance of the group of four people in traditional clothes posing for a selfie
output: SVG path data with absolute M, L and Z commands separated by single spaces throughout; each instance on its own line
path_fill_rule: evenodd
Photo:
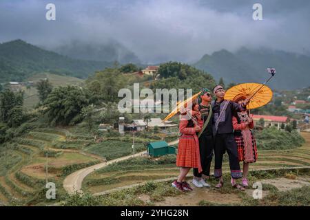
M 216 100 L 212 101 L 212 96 Z M 180 119 L 180 140 L 176 166 L 180 175 L 172 186 L 182 191 L 191 191 L 186 175 L 193 168 L 192 184 L 198 188 L 209 187 L 210 167 L 215 155 L 214 177 L 218 179 L 216 188 L 224 185 L 222 177 L 223 155 L 229 156 L 231 186 L 245 190 L 249 185 L 247 174 L 249 163 L 256 162 L 258 157 L 256 140 L 251 132 L 253 119 L 247 111 L 249 100 L 237 96 L 234 100 L 225 100 L 225 89 L 217 85 L 213 89 L 203 89 L 198 98 L 192 100 L 192 107 L 182 109 Z M 239 162 L 243 162 L 243 172 Z M 237 179 L 242 178 L 242 184 Z

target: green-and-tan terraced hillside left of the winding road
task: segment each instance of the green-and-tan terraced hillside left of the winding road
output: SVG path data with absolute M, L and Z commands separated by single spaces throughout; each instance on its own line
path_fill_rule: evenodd
M 132 153 L 131 137 L 109 137 L 96 143 L 94 136 L 76 127 L 33 129 L 0 146 L 0 204 L 42 205 L 45 179 L 56 184 L 58 199 L 65 195 L 63 179 L 76 170 L 106 159 Z M 149 139 L 138 137 L 136 152 Z M 48 159 L 46 158 L 48 153 Z M 47 166 L 48 162 L 48 166 Z M 48 175 L 46 174 L 48 167 Z

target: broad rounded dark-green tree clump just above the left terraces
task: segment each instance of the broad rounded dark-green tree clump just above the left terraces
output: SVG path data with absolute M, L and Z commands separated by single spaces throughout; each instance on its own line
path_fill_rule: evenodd
M 96 101 L 96 97 L 87 89 L 76 86 L 58 87 L 53 89 L 44 102 L 45 114 L 53 125 L 76 124 L 83 120 L 83 107 Z

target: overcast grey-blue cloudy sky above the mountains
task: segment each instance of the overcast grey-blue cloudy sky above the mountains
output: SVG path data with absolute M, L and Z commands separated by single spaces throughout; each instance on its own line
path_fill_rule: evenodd
M 56 5 L 56 21 L 45 5 Z M 262 21 L 252 6 L 262 4 Z M 72 40 L 111 39 L 145 63 L 192 62 L 242 46 L 310 54 L 308 0 L 1 0 L 0 41 L 23 39 L 48 48 Z

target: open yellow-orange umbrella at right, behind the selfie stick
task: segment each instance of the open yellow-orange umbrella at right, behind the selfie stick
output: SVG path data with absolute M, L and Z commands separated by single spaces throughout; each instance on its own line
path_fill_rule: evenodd
M 272 94 L 271 89 L 266 85 L 260 83 L 242 83 L 228 89 L 224 98 L 226 100 L 234 100 L 240 96 L 251 98 L 254 95 L 247 105 L 247 109 L 256 109 L 270 102 Z

